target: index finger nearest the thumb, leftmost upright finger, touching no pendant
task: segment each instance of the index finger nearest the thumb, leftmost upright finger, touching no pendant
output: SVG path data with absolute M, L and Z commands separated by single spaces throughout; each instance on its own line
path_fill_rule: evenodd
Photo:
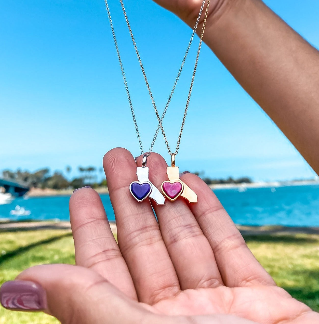
M 95 190 L 83 188 L 74 192 L 70 220 L 76 264 L 98 272 L 127 296 L 137 299 L 131 274 Z

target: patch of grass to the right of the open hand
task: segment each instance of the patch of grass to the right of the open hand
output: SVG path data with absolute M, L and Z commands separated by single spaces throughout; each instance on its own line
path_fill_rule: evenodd
M 319 235 L 252 236 L 245 240 L 280 287 L 319 311 Z

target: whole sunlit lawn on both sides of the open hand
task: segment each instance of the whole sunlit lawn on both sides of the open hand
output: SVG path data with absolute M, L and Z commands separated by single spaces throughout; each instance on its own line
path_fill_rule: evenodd
M 293 297 L 319 311 L 319 235 L 245 236 L 259 262 Z M 0 284 L 24 269 L 43 263 L 74 264 L 69 230 L 0 232 Z M 0 324 L 53 324 L 42 313 L 11 312 L 0 307 Z

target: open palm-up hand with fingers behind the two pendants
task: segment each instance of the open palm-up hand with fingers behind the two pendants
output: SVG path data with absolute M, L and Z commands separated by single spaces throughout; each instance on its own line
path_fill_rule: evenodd
M 148 166 L 159 187 L 166 179 L 164 159 L 152 153 Z M 67 324 L 319 321 L 319 314 L 275 285 L 197 176 L 182 180 L 198 194 L 198 203 L 154 205 L 157 223 L 148 200 L 137 203 L 128 189 L 136 179 L 131 154 L 111 150 L 104 168 L 119 245 L 97 192 L 74 192 L 70 218 L 77 265 L 41 265 L 17 277 L 44 288 L 45 312 Z

